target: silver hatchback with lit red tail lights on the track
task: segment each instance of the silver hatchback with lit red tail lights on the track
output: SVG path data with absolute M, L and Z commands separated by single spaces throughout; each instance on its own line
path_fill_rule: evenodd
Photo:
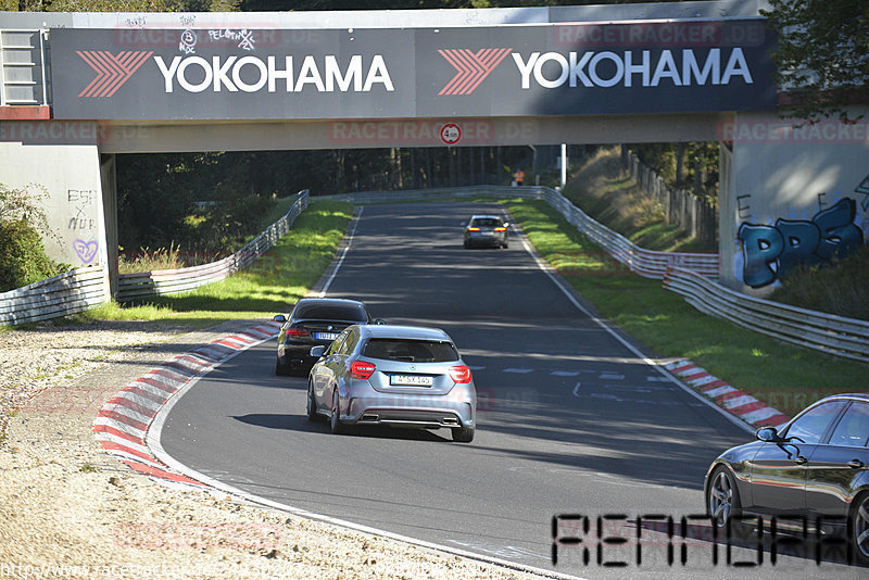
M 333 433 L 352 425 L 449 428 L 474 440 L 477 391 L 470 369 L 439 328 L 353 325 L 320 356 L 307 381 L 307 417 L 328 417 Z

